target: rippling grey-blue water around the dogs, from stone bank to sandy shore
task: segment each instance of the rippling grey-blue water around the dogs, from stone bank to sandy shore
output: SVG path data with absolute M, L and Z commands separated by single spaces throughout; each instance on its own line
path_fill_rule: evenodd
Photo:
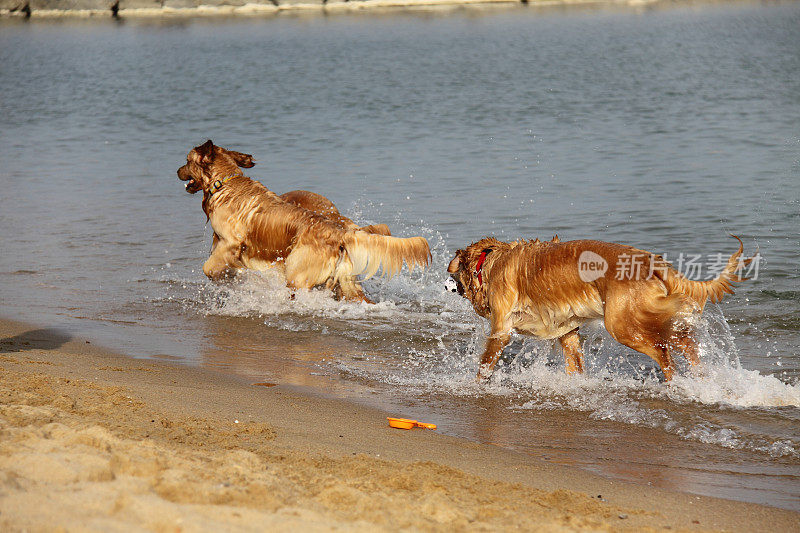
M 280 380 L 614 478 L 800 509 L 800 5 L 0 21 L 2 314 L 139 357 Z M 277 192 L 423 235 L 433 267 L 378 305 L 289 301 L 200 270 L 175 170 L 206 138 Z M 702 375 L 665 386 L 586 328 L 588 372 L 443 288 L 458 247 L 599 238 L 735 249 L 757 279 L 709 306 Z

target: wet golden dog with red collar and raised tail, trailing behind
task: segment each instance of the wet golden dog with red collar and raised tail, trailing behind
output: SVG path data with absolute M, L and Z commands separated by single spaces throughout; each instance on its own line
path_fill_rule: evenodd
M 659 255 L 601 241 L 561 242 L 556 236 L 509 243 L 489 237 L 458 250 L 447 271 L 458 293 L 491 325 L 478 380 L 491 376 L 512 330 L 558 339 L 567 373 L 583 372 L 578 330 L 599 318 L 615 340 L 653 358 L 671 380 L 676 351 L 692 366 L 699 362 L 686 319 L 746 279 L 740 269 L 753 258 L 740 259 L 742 241 L 734 238 L 739 250 L 710 281 L 687 279 Z

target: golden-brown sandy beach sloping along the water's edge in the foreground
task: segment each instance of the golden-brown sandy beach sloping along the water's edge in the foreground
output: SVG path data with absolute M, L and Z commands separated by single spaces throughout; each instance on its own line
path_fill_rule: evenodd
M 0 527 L 798 531 L 385 413 L 0 322 Z

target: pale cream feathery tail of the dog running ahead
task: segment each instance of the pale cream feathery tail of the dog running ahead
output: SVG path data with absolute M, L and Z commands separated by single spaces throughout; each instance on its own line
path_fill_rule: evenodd
M 363 275 L 364 279 L 374 276 L 378 270 L 385 275 L 394 276 L 403 268 L 403 262 L 409 270 L 419 266 L 425 268 L 430 264 L 431 252 L 428 241 L 423 237 L 389 237 L 366 233 L 364 231 L 348 231 L 344 238 L 344 247 L 353 263 L 353 275 Z

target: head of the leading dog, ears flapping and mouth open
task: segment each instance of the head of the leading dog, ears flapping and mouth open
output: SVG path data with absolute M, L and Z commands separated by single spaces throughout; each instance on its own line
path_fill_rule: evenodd
M 178 169 L 178 179 L 186 182 L 186 192 L 207 191 L 218 179 L 241 175 L 239 167 L 250 168 L 253 156 L 214 146 L 210 140 L 196 146 L 186 155 L 186 164 Z

